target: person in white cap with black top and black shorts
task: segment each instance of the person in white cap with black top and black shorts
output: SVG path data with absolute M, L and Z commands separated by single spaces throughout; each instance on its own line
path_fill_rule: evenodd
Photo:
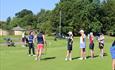
M 72 32 L 68 32 L 68 34 L 69 34 L 69 37 L 67 38 L 68 39 L 68 43 L 67 43 L 67 55 L 66 55 L 66 58 L 65 58 L 65 60 L 67 61 L 67 60 L 72 60 L 72 58 L 71 58 L 71 55 L 72 55 L 72 53 L 71 53 L 71 51 L 72 51 L 72 44 L 73 44 L 73 34 L 72 34 Z

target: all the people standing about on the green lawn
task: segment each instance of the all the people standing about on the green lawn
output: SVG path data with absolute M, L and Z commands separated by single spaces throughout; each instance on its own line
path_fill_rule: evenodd
M 80 49 L 81 49 L 81 56 L 80 60 L 86 60 L 86 35 L 84 33 L 84 30 L 80 30 Z M 28 41 L 29 46 L 29 56 L 36 56 L 35 60 L 40 60 L 42 52 L 44 51 L 44 44 L 46 43 L 45 36 L 43 32 L 39 32 L 37 35 L 35 35 L 34 31 L 30 31 L 29 36 L 25 37 L 23 36 L 22 41 L 24 41 L 24 38 Z M 90 49 L 90 55 L 91 58 L 94 58 L 94 35 L 92 32 L 88 35 L 89 39 L 89 49 Z M 34 43 L 37 41 L 37 47 L 36 47 L 36 54 L 35 54 L 35 48 Z M 70 31 L 68 32 L 67 37 L 67 54 L 65 60 L 72 60 L 72 48 L 73 48 L 73 33 Z M 99 43 L 99 49 L 100 49 L 100 57 L 103 58 L 104 56 L 104 35 L 100 34 L 98 37 L 98 43 Z M 33 54 L 31 54 L 31 51 Z M 115 70 L 115 40 L 112 44 L 112 47 L 110 49 L 111 55 L 112 55 L 112 68 Z

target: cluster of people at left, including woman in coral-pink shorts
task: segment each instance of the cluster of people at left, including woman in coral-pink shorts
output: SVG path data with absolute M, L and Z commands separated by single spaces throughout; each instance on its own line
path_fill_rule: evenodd
M 37 47 L 36 50 L 34 48 L 35 41 L 37 41 Z M 22 37 L 23 46 L 24 44 L 28 44 L 29 47 L 29 56 L 36 56 L 35 60 L 40 60 L 42 52 L 44 51 L 44 44 L 46 43 L 44 33 L 39 32 L 37 35 L 35 35 L 34 31 L 30 31 L 29 35 L 25 37 L 25 35 Z M 32 53 L 31 53 L 32 51 Z M 36 51 L 36 54 L 35 54 Z

